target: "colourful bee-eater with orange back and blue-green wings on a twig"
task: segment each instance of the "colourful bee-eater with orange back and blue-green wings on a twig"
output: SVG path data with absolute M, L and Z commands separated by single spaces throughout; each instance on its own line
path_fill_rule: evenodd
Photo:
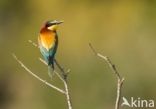
M 40 29 L 38 36 L 38 45 L 40 52 L 48 65 L 48 74 L 52 78 L 54 71 L 55 54 L 58 47 L 58 25 L 63 21 L 50 20 L 46 21 Z

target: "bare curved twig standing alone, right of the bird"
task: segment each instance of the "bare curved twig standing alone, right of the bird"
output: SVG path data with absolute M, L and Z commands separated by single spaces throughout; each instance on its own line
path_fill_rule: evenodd
M 103 56 L 102 54 L 96 52 L 96 50 L 93 48 L 91 43 L 89 43 L 89 46 L 90 46 L 90 48 L 93 51 L 95 56 L 100 57 L 100 58 L 102 58 L 103 60 L 105 60 L 107 62 L 107 64 L 109 65 L 109 67 L 112 69 L 113 73 L 117 77 L 118 81 L 117 81 L 117 92 L 116 92 L 117 96 L 116 96 L 115 109 L 119 109 L 119 104 L 120 104 L 120 100 L 121 100 L 121 89 L 122 89 L 122 85 L 123 85 L 123 82 L 124 82 L 124 78 L 120 76 L 120 74 L 117 71 L 115 65 L 111 62 L 111 60 L 107 56 Z

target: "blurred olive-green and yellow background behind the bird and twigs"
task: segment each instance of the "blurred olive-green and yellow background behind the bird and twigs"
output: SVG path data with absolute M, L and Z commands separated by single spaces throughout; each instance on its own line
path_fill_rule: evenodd
M 116 78 L 93 55 L 89 42 L 125 77 L 123 96 L 156 100 L 155 0 L 1 0 L 0 109 L 67 109 L 62 94 L 29 75 L 11 56 L 15 53 L 50 81 L 39 50 L 28 43 L 37 42 L 50 19 L 64 20 L 56 58 L 71 69 L 74 109 L 113 109 L 115 103 Z M 51 82 L 63 87 L 56 76 Z

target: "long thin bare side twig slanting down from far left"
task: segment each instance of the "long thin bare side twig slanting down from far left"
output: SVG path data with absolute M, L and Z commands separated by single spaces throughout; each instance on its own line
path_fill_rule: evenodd
M 50 83 L 48 83 L 47 81 L 43 80 L 42 78 L 40 78 L 39 76 L 37 76 L 36 74 L 34 74 L 30 69 L 28 69 L 22 61 L 20 61 L 17 56 L 15 54 L 12 54 L 12 56 L 14 57 L 14 59 L 21 65 L 21 67 L 23 67 L 29 74 L 31 74 L 32 76 L 34 76 L 36 79 L 38 79 L 39 81 L 43 82 L 44 84 L 46 84 L 47 86 L 57 90 L 58 92 L 61 92 L 62 94 L 66 94 L 66 92 Z

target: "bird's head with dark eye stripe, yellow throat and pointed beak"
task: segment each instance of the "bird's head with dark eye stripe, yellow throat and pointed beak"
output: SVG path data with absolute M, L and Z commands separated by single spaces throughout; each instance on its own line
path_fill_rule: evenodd
M 48 30 L 56 31 L 58 25 L 61 23 L 63 23 L 63 21 L 57 21 L 57 20 L 47 21 L 44 27 Z

